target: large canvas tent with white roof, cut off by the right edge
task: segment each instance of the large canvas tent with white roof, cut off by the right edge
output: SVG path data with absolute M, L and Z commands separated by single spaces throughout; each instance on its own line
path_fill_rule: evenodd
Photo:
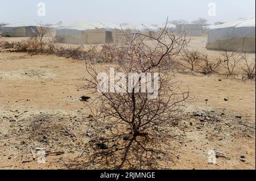
M 255 16 L 210 27 L 207 49 L 255 52 Z

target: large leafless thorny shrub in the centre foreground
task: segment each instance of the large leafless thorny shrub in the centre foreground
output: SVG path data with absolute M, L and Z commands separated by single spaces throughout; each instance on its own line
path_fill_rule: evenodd
M 132 37 L 132 38 L 131 38 Z M 168 33 L 167 28 L 158 38 L 154 39 L 154 45 L 148 47 L 142 33 L 133 33 L 127 36 L 129 43 L 119 45 L 116 49 L 115 71 L 125 75 L 129 73 L 146 73 L 152 75 L 158 73 L 158 96 L 151 99 L 150 91 L 137 91 L 135 86 L 126 89 L 127 84 L 118 87 L 113 92 L 99 92 L 99 96 L 88 104 L 91 127 L 88 132 L 90 141 L 84 149 L 82 164 L 74 165 L 76 168 L 94 169 L 156 169 L 160 157 L 171 162 L 170 141 L 181 138 L 182 132 L 176 124 L 176 118 L 184 107 L 184 101 L 188 99 L 188 92 L 181 91 L 174 82 L 173 74 L 165 72 L 162 68 L 167 60 L 176 57 L 187 44 L 185 36 L 176 37 Z M 166 43 L 166 39 L 170 43 Z M 101 86 L 101 80 L 97 78 L 96 62 L 98 56 L 87 57 L 86 70 L 90 77 L 88 89 L 97 90 Z M 173 58 L 171 58 L 172 60 Z M 102 68 L 102 67 L 101 67 Z M 108 69 L 101 72 L 109 73 Z M 147 82 L 153 84 L 153 79 L 146 82 L 138 78 L 136 85 L 139 90 Z M 125 77 L 127 83 L 127 76 Z M 113 81 L 113 79 L 108 79 Z M 154 82 L 154 86 L 156 83 Z M 110 86 L 109 88 L 113 88 Z M 167 149 L 166 149 L 167 148 Z M 76 162 L 77 163 L 77 160 Z

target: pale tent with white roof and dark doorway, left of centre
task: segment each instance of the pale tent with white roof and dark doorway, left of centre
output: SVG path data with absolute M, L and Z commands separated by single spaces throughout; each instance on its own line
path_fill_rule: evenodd
M 113 31 L 117 26 L 107 23 L 85 22 L 56 30 L 59 43 L 104 44 L 114 43 Z

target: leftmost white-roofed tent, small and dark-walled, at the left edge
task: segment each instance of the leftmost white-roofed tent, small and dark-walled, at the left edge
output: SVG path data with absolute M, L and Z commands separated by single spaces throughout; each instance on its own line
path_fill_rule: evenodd
M 8 37 L 30 37 L 36 36 L 38 25 L 27 23 L 8 24 L 2 27 L 2 36 Z

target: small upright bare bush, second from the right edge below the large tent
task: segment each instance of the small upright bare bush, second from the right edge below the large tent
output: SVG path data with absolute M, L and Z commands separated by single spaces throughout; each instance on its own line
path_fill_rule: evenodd
M 241 62 L 241 56 L 239 53 L 228 53 L 225 51 L 224 53 L 221 52 L 221 57 L 219 57 L 220 65 L 222 68 L 228 70 L 228 77 L 234 76 L 234 69 L 237 67 L 237 65 Z

